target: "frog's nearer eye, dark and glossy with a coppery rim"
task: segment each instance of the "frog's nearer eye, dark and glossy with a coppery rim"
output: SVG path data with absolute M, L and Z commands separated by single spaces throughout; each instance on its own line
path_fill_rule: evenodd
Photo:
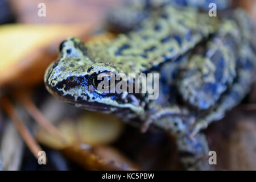
M 97 75 L 96 77 L 93 78 L 93 86 L 94 88 L 96 88 L 97 90 L 101 90 L 101 89 L 109 89 L 111 88 L 111 76 L 113 74 L 110 72 L 103 72 L 100 73 L 99 75 Z M 114 76 L 114 75 L 113 75 Z M 115 84 L 115 82 L 113 82 L 113 84 Z

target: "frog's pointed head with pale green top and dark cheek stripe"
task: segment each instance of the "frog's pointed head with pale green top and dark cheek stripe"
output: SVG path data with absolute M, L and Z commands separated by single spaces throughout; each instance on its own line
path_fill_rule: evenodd
M 138 98 L 127 93 L 102 93 L 101 81 L 117 74 L 112 63 L 91 60 L 84 43 L 69 38 L 60 45 L 60 59 L 49 65 L 44 76 L 48 92 L 53 96 L 86 110 L 105 113 L 139 114 L 143 112 Z M 104 79 L 98 79 L 98 77 Z M 101 87 L 102 88 L 102 87 Z

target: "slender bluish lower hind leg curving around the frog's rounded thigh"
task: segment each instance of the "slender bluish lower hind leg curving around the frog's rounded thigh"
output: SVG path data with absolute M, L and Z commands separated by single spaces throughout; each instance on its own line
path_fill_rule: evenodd
M 226 111 L 235 107 L 246 96 L 254 81 L 254 57 L 255 53 L 250 44 L 243 44 L 240 48 L 240 57 L 237 60 L 237 72 L 239 75 L 236 81 L 234 81 L 225 96 L 218 101 L 216 109 L 199 119 L 195 127 L 193 127 L 192 135 L 196 135 L 201 129 L 207 128 L 211 122 L 222 119 Z

